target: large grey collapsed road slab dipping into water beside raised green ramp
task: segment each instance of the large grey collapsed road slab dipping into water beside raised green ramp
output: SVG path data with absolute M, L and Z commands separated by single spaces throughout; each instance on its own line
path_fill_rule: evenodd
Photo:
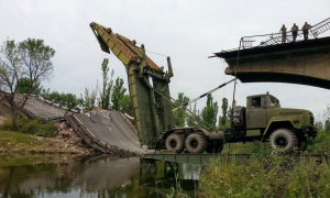
M 102 153 L 134 156 L 147 152 L 140 147 L 135 128 L 119 111 L 66 113 L 65 118 L 86 143 Z

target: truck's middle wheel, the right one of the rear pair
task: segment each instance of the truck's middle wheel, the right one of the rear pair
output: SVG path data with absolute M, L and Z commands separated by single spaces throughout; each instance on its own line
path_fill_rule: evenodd
M 206 147 L 206 138 L 200 133 L 191 133 L 186 139 L 186 148 L 188 153 L 204 153 Z

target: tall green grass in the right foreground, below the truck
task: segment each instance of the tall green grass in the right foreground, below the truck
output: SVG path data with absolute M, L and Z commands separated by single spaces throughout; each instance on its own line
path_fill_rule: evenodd
M 330 166 L 315 158 L 271 154 L 248 161 L 222 156 L 206 166 L 199 197 L 330 197 Z

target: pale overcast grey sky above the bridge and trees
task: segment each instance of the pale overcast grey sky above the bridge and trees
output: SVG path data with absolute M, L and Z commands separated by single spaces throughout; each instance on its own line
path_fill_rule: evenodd
M 56 51 L 54 74 L 42 82 L 51 90 L 80 95 L 86 87 L 94 88 L 102 80 L 103 58 L 109 58 L 114 77 L 123 78 L 127 86 L 122 63 L 100 50 L 89 28 L 97 22 L 165 55 L 147 53 L 165 69 L 170 56 L 170 95 L 177 98 L 185 92 L 190 99 L 232 79 L 224 75 L 223 59 L 208 58 L 212 53 L 238 47 L 242 36 L 277 33 L 282 24 L 301 28 L 307 21 L 312 25 L 330 16 L 329 0 L 0 0 L 0 8 L 1 43 L 41 38 Z M 282 107 L 308 109 L 317 119 L 330 103 L 328 89 L 278 82 L 239 81 L 235 99 L 245 106 L 248 96 L 266 91 Z M 231 102 L 233 84 L 212 96 L 220 106 L 223 97 Z M 197 106 L 201 109 L 205 103 L 201 99 Z

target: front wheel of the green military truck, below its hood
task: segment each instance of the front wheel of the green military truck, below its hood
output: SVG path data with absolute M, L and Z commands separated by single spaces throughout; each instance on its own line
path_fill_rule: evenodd
M 277 129 L 270 136 L 270 146 L 273 151 L 278 150 L 283 154 L 289 154 L 298 146 L 297 135 L 288 129 Z

